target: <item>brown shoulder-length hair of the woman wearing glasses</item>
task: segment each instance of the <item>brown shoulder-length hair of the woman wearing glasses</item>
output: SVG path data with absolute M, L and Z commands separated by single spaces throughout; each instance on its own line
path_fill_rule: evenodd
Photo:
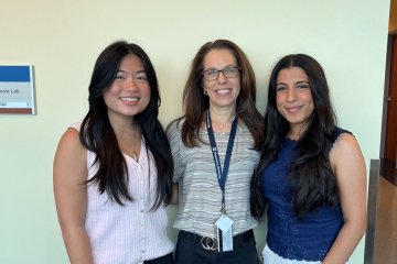
M 239 120 L 245 122 L 251 133 L 255 141 L 255 146 L 253 147 L 257 147 L 264 139 L 264 120 L 255 106 L 255 74 L 245 53 L 228 40 L 216 40 L 205 43 L 201 46 L 192 62 L 189 78 L 183 90 L 184 116 L 182 118 L 185 121 L 181 129 L 182 142 L 190 147 L 197 146 L 200 142 L 205 143 L 198 134 L 205 110 L 210 107 L 208 97 L 203 95 L 203 70 L 205 55 L 213 50 L 227 50 L 236 59 L 240 70 L 240 94 L 237 97 L 236 114 Z

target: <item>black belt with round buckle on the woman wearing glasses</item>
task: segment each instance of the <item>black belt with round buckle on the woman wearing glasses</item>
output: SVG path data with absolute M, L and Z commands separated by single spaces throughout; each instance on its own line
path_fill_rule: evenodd
M 192 232 L 181 230 L 179 232 L 180 238 L 187 239 L 195 244 L 198 244 L 203 250 L 217 251 L 217 239 L 212 237 L 202 237 Z M 244 233 L 233 237 L 233 249 L 239 249 L 254 239 L 254 231 L 250 229 Z

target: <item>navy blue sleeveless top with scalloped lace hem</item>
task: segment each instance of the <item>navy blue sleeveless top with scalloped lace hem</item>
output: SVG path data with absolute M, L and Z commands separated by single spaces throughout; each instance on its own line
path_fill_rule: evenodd
M 337 136 L 347 132 L 336 130 Z M 347 132 L 348 133 L 348 132 Z M 291 204 L 289 170 L 298 154 L 297 141 L 283 140 L 278 157 L 261 173 L 261 186 L 268 200 L 267 245 L 283 258 L 322 261 L 343 226 L 341 206 L 322 207 L 297 219 Z

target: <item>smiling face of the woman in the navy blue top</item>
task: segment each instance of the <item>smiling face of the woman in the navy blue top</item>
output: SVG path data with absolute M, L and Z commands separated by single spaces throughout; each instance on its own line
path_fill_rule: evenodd
M 280 114 L 290 123 L 290 134 L 299 138 L 314 111 L 309 78 L 303 69 L 290 67 L 279 72 L 276 103 Z

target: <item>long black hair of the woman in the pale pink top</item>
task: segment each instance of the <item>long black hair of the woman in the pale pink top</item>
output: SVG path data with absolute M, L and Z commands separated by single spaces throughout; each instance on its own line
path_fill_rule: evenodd
M 129 54 L 141 59 L 150 86 L 149 105 L 142 112 L 136 114 L 133 120 L 140 125 L 146 147 L 154 158 L 158 180 L 152 209 L 158 209 L 161 205 L 168 206 L 171 201 L 173 162 L 170 144 L 158 120 L 161 99 L 155 72 L 148 55 L 136 44 L 125 41 L 115 42 L 107 46 L 96 61 L 88 87 L 89 110 L 79 132 L 82 144 L 96 154 L 95 164 L 98 164 L 97 173 L 87 180 L 87 184 L 96 184 L 100 194 L 106 191 L 110 200 L 120 206 L 124 201 L 133 200 L 128 191 L 130 178 L 126 160 L 110 125 L 103 96 L 114 82 L 121 61 Z

